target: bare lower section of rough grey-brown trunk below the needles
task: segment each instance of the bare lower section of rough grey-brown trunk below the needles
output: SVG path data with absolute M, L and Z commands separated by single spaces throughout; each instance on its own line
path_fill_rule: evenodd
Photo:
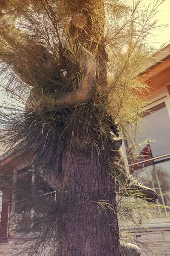
M 99 205 L 104 200 L 116 210 L 109 152 L 100 156 L 93 152 L 92 157 L 91 147 L 79 142 L 64 155 L 65 186 L 59 211 L 62 256 L 120 256 L 116 213 Z

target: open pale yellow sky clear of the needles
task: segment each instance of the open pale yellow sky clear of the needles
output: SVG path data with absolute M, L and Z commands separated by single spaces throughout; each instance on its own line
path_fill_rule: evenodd
M 146 4 L 154 3 L 157 0 L 143 0 Z M 165 0 L 161 6 L 158 8 L 158 13 L 156 14 L 156 19 L 159 20 L 158 25 L 161 24 L 170 24 L 170 0 Z M 169 42 L 168 42 L 169 41 Z M 170 44 L 170 26 L 162 27 L 161 29 L 156 29 L 153 31 L 153 37 L 150 38 L 150 43 L 158 49 L 162 44 Z M 3 101 L 7 101 L 6 97 L 4 97 L 3 92 L 0 87 L 0 104 Z

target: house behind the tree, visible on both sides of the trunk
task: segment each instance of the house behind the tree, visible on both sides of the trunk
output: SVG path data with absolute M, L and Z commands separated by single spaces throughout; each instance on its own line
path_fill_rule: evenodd
M 137 140 L 147 140 L 148 138 L 157 140 L 155 143 L 146 143 L 147 157 L 135 163 L 136 172 L 134 176 L 145 174 L 145 179 L 148 186 L 156 189 L 158 193 L 158 200 L 161 204 L 170 206 L 170 45 L 153 55 L 152 60 L 143 68 L 148 70 L 142 72 L 141 79 L 143 79 L 150 87 L 150 94 L 145 95 L 150 100 L 150 104 L 145 108 L 150 110 L 144 116 L 147 120 L 147 129 L 143 134 L 138 134 Z M 141 149 L 139 150 L 141 151 Z M 131 165 L 132 163 L 129 163 Z M 32 186 L 34 173 L 29 172 L 29 167 L 26 164 L 14 163 L 14 160 L 8 154 L 0 156 L 0 169 L 4 172 L 8 170 L 12 181 L 16 182 L 17 172 L 22 172 L 22 175 L 29 175 L 30 186 Z M 41 177 L 39 177 L 41 179 Z M 40 188 L 45 194 L 45 187 L 47 191 L 51 191 L 51 195 L 57 192 L 45 181 L 43 181 L 44 188 Z M 9 216 L 10 212 L 16 207 L 16 201 L 11 191 L 7 187 L 3 187 L 2 194 L 2 210 L 1 210 L 1 224 L 0 224 L 0 252 L 8 256 L 9 244 L 12 243 L 14 237 L 12 235 L 9 239 Z M 170 210 L 164 209 L 163 217 L 154 218 L 154 222 L 147 222 L 142 220 L 147 230 L 139 232 L 138 229 L 133 229 L 133 235 L 136 240 L 142 241 L 145 244 L 153 247 L 158 255 L 170 256 Z M 154 216 L 153 216 L 154 217 Z M 12 254 L 9 254 L 12 255 Z M 142 252 L 142 256 L 147 255 Z

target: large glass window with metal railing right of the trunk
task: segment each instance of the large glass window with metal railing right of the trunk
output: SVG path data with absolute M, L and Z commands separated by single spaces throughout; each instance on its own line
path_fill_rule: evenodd
M 138 149 L 139 157 L 133 163 L 133 177 L 139 178 L 158 193 L 158 201 L 170 206 L 170 115 L 167 97 L 155 102 L 148 108 L 151 112 L 144 116 L 145 131 L 137 133 L 136 145 L 149 141 Z M 143 126 L 143 123 L 140 124 Z M 170 210 L 164 209 L 165 217 L 170 217 Z

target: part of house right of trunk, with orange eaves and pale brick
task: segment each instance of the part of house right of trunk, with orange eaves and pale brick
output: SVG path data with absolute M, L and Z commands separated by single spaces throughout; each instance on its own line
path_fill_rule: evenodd
M 135 172 L 133 176 L 144 177 L 146 186 L 152 187 L 158 193 L 158 202 L 170 207 L 170 45 L 159 53 L 153 55 L 150 63 L 144 67 L 147 72 L 141 73 L 143 79 L 150 87 L 150 94 L 145 95 L 150 104 L 145 108 L 149 110 L 144 114 L 145 129 L 137 134 L 136 140 L 156 140 L 154 143 L 146 142 L 139 148 L 145 152 L 138 163 L 133 163 Z M 129 163 L 130 164 L 130 163 Z M 140 179 L 139 179 L 140 180 Z M 170 209 L 159 209 L 164 218 L 153 216 L 153 222 L 142 220 L 142 224 L 149 230 L 133 230 L 137 241 L 144 242 L 158 255 L 170 255 Z M 134 227 L 133 227 L 134 228 Z M 147 252 L 143 251 L 142 256 Z

